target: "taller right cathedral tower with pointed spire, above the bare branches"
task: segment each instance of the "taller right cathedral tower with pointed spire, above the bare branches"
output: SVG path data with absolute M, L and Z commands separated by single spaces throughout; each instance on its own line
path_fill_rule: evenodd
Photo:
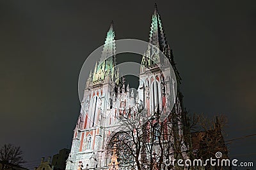
M 163 113 L 170 113 L 170 115 L 168 114 L 169 118 L 164 121 L 170 121 L 173 129 L 175 129 L 173 138 L 178 139 L 180 136 L 188 136 L 187 113 L 184 109 L 183 96 L 180 92 L 181 78 L 174 62 L 172 49 L 166 41 L 162 20 L 156 4 L 152 15 L 148 43 L 150 45 L 141 60 L 139 97 L 143 100 L 143 106 L 149 113 L 156 112 L 158 108 Z M 160 57 L 161 53 L 167 57 L 168 64 L 172 65 L 175 79 L 170 74 L 170 65 L 166 67 L 166 61 L 163 60 L 163 57 Z M 177 89 L 175 89 L 175 86 Z M 176 97 L 175 91 L 177 92 Z M 168 106 L 173 106 L 172 110 Z M 184 148 L 188 148 L 189 138 L 186 137 L 181 140 L 184 141 Z

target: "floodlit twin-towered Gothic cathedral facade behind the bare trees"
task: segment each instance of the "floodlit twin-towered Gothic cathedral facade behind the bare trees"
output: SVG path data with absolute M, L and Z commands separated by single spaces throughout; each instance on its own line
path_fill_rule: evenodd
M 184 128 L 187 126 L 187 115 L 179 89 L 181 79 L 156 7 L 152 15 L 148 43 L 156 46 L 168 58 L 175 78 L 168 74 L 170 67 L 159 69 L 159 65 L 157 65 L 161 63 L 159 52 L 148 47 L 141 60 L 140 85 L 134 92 L 125 83 L 124 78 L 119 76 L 120 73 L 116 67 L 115 31 L 113 22 L 111 23 L 100 61 L 95 63 L 95 69 L 91 71 L 86 81 L 81 111 L 74 129 L 72 148 L 67 160 L 67 170 L 111 169 L 109 165 L 115 169 L 124 169 L 124 167 L 118 166 L 115 155 L 116 148 L 114 148 L 115 152 L 109 155 L 105 146 L 117 125 L 116 117 L 119 114 L 125 114 L 125 111 L 131 109 L 132 106 L 143 107 L 150 113 L 156 110 L 173 112 L 179 117 L 177 134 L 188 131 Z M 164 74 L 164 72 L 166 73 Z M 174 105 L 172 110 L 168 110 L 170 105 Z M 189 144 L 186 143 L 186 139 L 184 141 L 182 145 L 186 150 Z M 129 169 L 129 167 L 125 168 Z

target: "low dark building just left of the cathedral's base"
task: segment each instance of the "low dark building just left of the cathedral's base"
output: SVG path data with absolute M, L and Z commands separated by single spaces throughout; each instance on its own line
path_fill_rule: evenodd
M 68 159 L 68 155 L 70 150 L 67 148 L 63 148 L 59 151 L 56 155 L 52 157 L 52 166 L 56 170 L 65 170 L 66 167 L 66 160 Z

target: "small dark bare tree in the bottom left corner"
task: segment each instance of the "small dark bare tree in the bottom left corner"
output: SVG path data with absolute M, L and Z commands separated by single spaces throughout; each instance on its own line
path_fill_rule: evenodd
M 7 169 L 9 164 L 20 166 L 20 164 L 24 163 L 20 146 L 13 146 L 10 143 L 4 144 L 4 146 L 0 148 L 0 160 L 2 170 Z

